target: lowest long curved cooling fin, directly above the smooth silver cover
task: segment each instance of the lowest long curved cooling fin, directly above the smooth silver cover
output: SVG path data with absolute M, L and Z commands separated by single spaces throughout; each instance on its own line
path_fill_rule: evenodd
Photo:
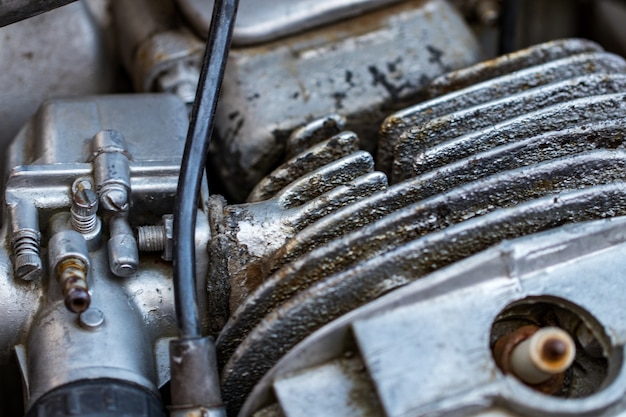
M 222 371 L 225 400 L 231 410 L 238 409 L 263 374 L 296 343 L 392 289 L 504 239 L 624 214 L 626 188 L 622 182 L 566 192 L 418 237 L 382 256 L 327 276 L 270 313 L 246 336 Z

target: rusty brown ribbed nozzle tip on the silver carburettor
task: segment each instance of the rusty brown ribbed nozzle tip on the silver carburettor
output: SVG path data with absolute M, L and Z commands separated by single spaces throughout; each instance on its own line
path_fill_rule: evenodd
M 73 313 L 89 308 L 91 296 L 87 284 L 87 266 L 78 258 L 67 258 L 57 267 L 65 307 Z

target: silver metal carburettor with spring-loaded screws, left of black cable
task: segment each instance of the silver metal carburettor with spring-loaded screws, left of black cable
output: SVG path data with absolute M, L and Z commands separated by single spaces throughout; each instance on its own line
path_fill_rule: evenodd
M 171 211 L 186 127 L 187 108 L 174 96 L 54 100 L 9 149 L 0 360 L 15 351 L 29 416 L 57 415 L 72 386 L 84 394 L 62 415 L 104 415 L 89 414 L 98 412 L 94 395 L 118 395 L 115 404 L 135 413 L 123 415 L 164 415 L 158 388 L 177 333 L 171 265 L 160 254 L 139 258 L 131 227 Z M 208 222 L 199 218 L 203 305 Z

